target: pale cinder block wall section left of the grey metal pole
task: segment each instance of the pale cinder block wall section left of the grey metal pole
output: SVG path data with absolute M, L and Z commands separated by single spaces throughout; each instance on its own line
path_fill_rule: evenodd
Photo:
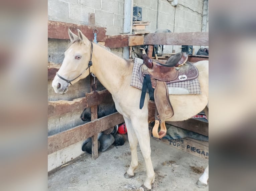
M 123 32 L 124 0 L 48 0 L 48 20 L 88 25 L 88 13 L 107 35 Z

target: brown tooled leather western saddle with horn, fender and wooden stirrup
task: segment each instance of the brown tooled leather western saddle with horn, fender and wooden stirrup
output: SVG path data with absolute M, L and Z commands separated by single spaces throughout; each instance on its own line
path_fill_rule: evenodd
M 171 56 L 165 64 L 153 61 L 148 65 L 144 62 L 139 69 L 140 78 L 143 79 L 140 97 L 140 109 L 144 105 L 146 92 L 149 93 L 148 109 L 155 108 L 155 125 L 152 134 L 162 138 L 166 134 L 165 119 L 174 115 L 167 84 L 196 79 L 199 75 L 197 68 L 187 61 L 185 53 Z M 160 124 L 160 131 L 158 127 Z

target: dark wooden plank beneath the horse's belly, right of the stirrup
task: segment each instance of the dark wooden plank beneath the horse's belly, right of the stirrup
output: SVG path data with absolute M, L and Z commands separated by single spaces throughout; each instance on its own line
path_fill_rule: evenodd
M 185 121 L 165 121 L 167 124 L 171 124 L 189 131 L 209 136 L 209 123 L 200 121 L 197 119 L 188 119 Z

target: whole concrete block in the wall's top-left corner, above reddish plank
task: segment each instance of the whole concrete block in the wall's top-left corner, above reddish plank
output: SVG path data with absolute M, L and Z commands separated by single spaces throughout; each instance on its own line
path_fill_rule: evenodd
M 68 19 L 69 3 L 59 0 L 48 0 L 48 16 Z

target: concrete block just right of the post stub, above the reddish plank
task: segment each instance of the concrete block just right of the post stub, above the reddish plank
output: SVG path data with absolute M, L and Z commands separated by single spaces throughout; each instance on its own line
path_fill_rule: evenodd
M 106 11 L 95 10 L 95 24 L 103 27 L 113 27 L 114 14 Z

